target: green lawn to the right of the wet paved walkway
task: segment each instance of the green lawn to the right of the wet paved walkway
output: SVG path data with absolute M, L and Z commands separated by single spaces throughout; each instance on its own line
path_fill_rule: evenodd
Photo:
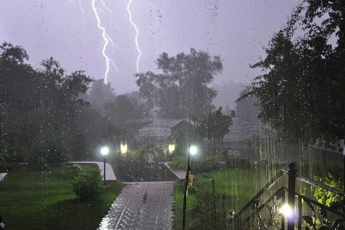
M 259 175 L 255 169 L 225 169 L 219 171 L 211 171 L 209 174 L 212 178 L 204 178 L 201 175 L 195 175 L 193 186 L 197 192 L 188 192 L 187 200 L 187 229 L 189 224 L 194 224 L 193 218 L 199 218 L 200 214 L 196 213 L 197 196 L 201 193 L 213 193 L 212 180 L 215 180 L 215 192 L 218 207 L 221 207 L 221 199 L 223 193 L 226 197 L 226 209 L 239 211 L 259 190 L 262 188 L 266 180 Z M 175 218 L 173 229 L 182 229 L 182 211 L 184 197 L 184 182 L 175 182 Z M 201 206 L 201 204 L 200 204 Z M 204 210 L 200 210 L 204 221 L 208 218 Z

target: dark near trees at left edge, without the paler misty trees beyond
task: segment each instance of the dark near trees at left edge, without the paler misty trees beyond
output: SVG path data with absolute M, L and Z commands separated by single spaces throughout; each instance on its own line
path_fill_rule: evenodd
M 0 158 L 66 161 L 80 135 L 76 116 L 88 104 L 79 94 L 92 79 L 83 71 L 66 74 L 52 57 L 41 69 L 24 63 L 28 59 L 20 46 L 0 46 Z

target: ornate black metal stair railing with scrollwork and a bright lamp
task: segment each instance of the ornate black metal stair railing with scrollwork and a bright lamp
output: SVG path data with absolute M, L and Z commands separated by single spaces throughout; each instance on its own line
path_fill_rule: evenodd
M 299 176 L 296 172 L 296 165 L 290 162 L 288 169 L 281 170 L 277 173 L 274 178 L 234 215 L 231 221 L 232 228 L 234 230 L 294 230 L 295 227 L 298 230 L 302 230 L 302 227 L 304 227 L 303 229 L 315 230 L 345 229 L 343 225 L 345 223 L 345 192 L 326 186 L 318 181 Z M 284 174 L 288 176 L 288 187 L 281 186 L 260 203 L 259 198 L 262 198 L 268 189 L 273 189 L 278 179 Z M 342 197 L 342 201 L 334 202 L 330 206 L 319 203 L 313 198 L 307 197 L 305 194 L 296 192 L 296 180 L 338 194 Z M 303 213 L 306 215 L 303 216 Z

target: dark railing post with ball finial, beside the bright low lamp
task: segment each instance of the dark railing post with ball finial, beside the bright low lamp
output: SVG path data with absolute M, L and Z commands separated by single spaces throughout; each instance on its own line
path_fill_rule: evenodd
M 288 197 L 287 197 L 287 204 L 291 209 L 291 215 L 287 217 L 287 230 L 294 230 L 295 229 L 295 186 L 296 186 L 296 164 L 290 162 L 288 164 L 288 171 L 289 171 L 289 181 L 288 181 Z

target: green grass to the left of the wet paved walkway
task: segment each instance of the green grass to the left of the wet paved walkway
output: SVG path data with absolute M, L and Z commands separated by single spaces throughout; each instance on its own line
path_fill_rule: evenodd
M 91 166 L 92 167 L 92 166 Z M 19 166 L 0 183 L 6 229 L 96 229 L 123 184 L 107 182 L 99 200 L 80 202 L 66 166 L 36 172 Z

